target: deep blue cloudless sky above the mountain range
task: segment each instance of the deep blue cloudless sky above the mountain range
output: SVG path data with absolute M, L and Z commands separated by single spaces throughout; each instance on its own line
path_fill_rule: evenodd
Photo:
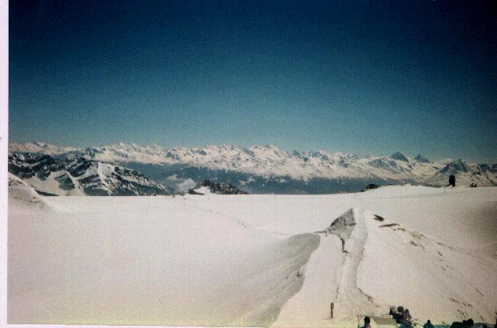
M 10 141 L 497 162 L 493 1 L 10 1 Z

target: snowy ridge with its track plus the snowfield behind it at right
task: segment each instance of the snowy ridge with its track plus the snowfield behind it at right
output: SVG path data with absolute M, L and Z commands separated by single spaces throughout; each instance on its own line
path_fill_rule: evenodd
M 392 305 L 410 309 L 416 322 L 495 320 L 497 188 L 404 185 L 245 198 L 251 201 L 235 197 L 233 206 L 226 198 L 190 202 L 262 230 L 321 235 L 303 287 L 281 309 L 275 327 L 356 327 L 356 314 L 385 315 Z

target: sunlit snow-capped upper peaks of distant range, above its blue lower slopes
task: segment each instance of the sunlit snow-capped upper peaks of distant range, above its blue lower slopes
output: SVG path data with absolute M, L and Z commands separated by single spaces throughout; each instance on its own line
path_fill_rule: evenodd
M 126 163 L 154 164 L 166 167 L 180 165 L 181 167 L 243 173 L 262 178 L 288 177 L 303 181 L 314 178 L 362 179 L 386 183 L 408 182 L 444 185 L 447 178 L 444 175 L 446 171 L 453 168 L 458 172 L 467 173 L 469 170 L 468 168 L 464 169 L 469 164 L 462 161 L 430 163 L 423 155 L 418 155 L 412 159 L 400 152 L 387 157 L 383 155 L 329 153 L 322 149 L 288 151 L 275 144 L 252 145 L 249 148 L 239 148 L 235 145 L 161 148 L 160 146 L 141 146 L 135 143 L 117 143 L 84 149 L 42 145 L 41 143 L 26 143 L 25 145 L 12 143 L 9 150 L 12 153 L 56 155 L 58 158 L 84 157 L 89 160 L 124 166 L 127 165 Z M 447 165 L 448 168 L 444 169 Z M 489 167 L 493 168 L 493 166 Z M 482 174 L 491 174 L 488 179 L 481 180 L 480 184 L 493 184 L 493 181 L 497 180 L 493 176 L 495 174 L 492 170 L 483 170 L 475 166 L 474 173 L 482 171 Z

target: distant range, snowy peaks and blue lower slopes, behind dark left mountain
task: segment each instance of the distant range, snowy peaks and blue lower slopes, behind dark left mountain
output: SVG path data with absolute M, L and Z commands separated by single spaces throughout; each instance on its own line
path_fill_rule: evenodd
M 321 194 L 354 192 L 366 185 L 416 183 L 443 186 L 456 175 L 456 185 L 497 185 L 496 165 L 462 160 L 431 162 L 419 154 L 350 155 L 325 150 L 301 152 L 276 145 L 207 145 L 161 148 L 119 143 L 104 147 L 64 148 L 46 143 L 10 145 L 11 153 L 26 150 L 53 158 L 85 158 L 139 170 L 151 179 L 186 191 L 202 181 L 231 183 L 249 193 Z M 461 164 L 462 163 L 462 164 Z M 451 172 L 451 173 L 449 173 Z

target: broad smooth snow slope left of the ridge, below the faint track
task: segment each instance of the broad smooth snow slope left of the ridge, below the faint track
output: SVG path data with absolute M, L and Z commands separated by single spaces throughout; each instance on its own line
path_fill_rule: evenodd
M 9 215 L 9 323 L 267 326 L 319 244 L 178 196 L 45 201 Z

